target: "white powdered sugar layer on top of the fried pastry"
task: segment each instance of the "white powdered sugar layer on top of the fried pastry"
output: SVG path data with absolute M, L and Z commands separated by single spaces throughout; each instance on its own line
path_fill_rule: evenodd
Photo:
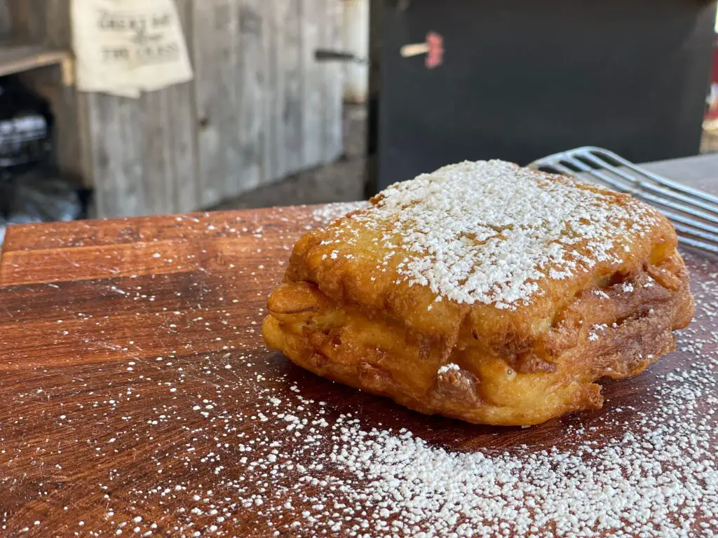
M 515 308 L 543 278 L 567 278 L 602 261 L 620 263 L 632 242 L 658 223 L 655 209 L 569 179 L 503 161 L 463 162 L 386 189 L 351 221 L 391 230 L 381 238 L 400 280 L 460 303 Z M 335 243 L 353 241 L 337 225 Z

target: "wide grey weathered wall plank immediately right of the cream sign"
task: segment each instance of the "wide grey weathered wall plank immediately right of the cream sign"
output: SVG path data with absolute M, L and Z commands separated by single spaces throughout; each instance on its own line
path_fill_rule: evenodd
M 210 207 L 238 194 L 238 0 L 196 1 L 193 7 L 200 196 Z

